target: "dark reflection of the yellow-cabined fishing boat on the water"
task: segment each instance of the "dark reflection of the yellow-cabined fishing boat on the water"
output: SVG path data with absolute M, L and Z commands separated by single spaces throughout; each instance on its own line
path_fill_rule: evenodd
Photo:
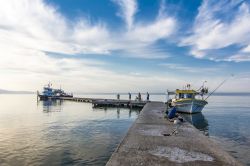
M 203 131 L 208 134 L 208 121 L 205 118 L 205 116 L 202 113 L 197 113 L 197 114 L 181 114 L 181 116 L 194 125 L 197 129 L 200 131 Z

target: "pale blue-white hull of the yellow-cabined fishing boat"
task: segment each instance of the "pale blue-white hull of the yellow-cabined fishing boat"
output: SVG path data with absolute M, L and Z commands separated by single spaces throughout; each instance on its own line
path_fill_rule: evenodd
M 177 112 L 189 114 L 201 112 L 206 104 L 205 100 L 181 100 L 173 102 Z

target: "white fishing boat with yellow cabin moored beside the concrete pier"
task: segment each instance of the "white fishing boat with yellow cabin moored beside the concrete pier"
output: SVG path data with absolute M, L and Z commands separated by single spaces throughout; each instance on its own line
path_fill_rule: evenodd
M 207 93 L 207 88 L 203 86 L 200 91 L 190 89 L 190 84 L 185 89 L 176 89 L 175 92 L 168 92 L 168 95 L 175 95 L 173 99 L 168 101 L 170 107 L 175 107 L 177 112 L 182 113 L 199 113 L 204 106 L 208 104 L 203 99 L 203 95 Z M 200 96 L 198 98 L 198 96 Z

